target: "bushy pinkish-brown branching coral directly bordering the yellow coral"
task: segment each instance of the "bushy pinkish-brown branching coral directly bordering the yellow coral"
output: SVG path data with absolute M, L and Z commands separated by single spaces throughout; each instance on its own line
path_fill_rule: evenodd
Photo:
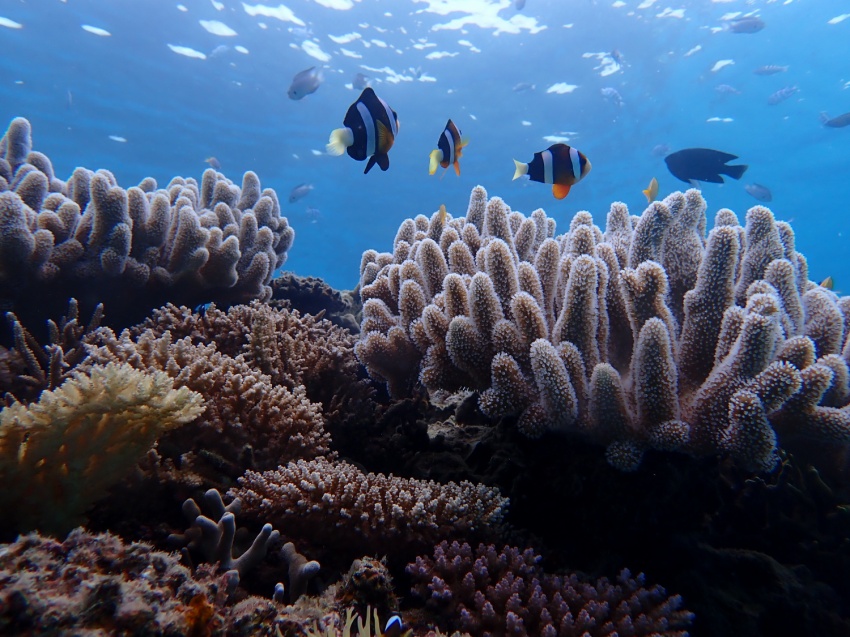
M 97 363 L 126 363 L 165 372 L 176 387 L 204 397 L 204 416 L 166 436 L 159 450 L 216 483 L 235 479 L 246 468 L 269 469 L 330 453 L 322 406 L 309 400 L 302 385 L 290 390 L 275 384 L 244 355 L 228 356 L 214 342 L 195 343 L 189 336 L 175 340 L 171 332 L 158 335 L 151 329 L 116 336 L 100 328 L 87 341 L 89 358 L 81 370 Z

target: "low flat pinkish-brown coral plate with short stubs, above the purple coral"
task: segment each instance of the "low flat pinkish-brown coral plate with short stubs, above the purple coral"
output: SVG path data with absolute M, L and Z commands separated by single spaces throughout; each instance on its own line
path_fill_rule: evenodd
M 407 551 L 458 534 L 486 532 L 507 500 L 470 482 L 365 473 L 326 458 L 247 471 L 230 495 L 246 515 L 269 520 L 295 537 L 359 555 Z

